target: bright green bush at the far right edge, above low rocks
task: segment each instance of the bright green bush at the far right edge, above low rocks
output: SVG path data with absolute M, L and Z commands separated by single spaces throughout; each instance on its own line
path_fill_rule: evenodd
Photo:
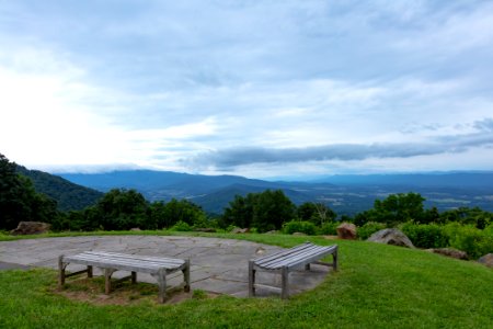
M 450 247 L 466 251 L 470 259 L 478 259 L 493 252 L 493 237 L 490 227 L 483 231 L 473 226 L 450 223 L 444 229 Z

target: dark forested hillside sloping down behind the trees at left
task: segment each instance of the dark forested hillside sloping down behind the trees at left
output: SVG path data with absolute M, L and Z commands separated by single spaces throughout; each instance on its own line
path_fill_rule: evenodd
M 58 209 L 79 211 L 91 206 L 103 196 L 103 193 L 84 188 L 58 175 L 38 170 L 28 170 L 18 166 L 18 172 L 28 177 L 38 193 L 44 193 L 57 201 Z

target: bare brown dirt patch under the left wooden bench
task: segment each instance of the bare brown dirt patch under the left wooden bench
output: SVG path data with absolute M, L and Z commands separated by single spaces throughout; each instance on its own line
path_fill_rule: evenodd
M 158 286 L 150 283 L 130 284 L 123 282 L 113 284 L 110 295 L 104 294 L 104 280 L 80 279 L 66 283 L 62 291 L 54 290 L 53 293 L 65 296 L 71 300 L 84 302 L 95 305 L 136 305 L 141 303 L 159 304 Z M 192 291 L 185 293 L 183 287 L 172 287 L 167 291 L 167 300 L 159 305 L 173 305 L 187 299 L 215 298 L 218 294 Z

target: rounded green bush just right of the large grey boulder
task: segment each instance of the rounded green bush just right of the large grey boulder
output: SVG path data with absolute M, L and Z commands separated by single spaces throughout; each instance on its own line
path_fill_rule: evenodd
M 444 232 L 443 227 L 436 224 L 405 223 L 400 229 L 417 248 L 444 248 L 448 246 L 448 237 Z

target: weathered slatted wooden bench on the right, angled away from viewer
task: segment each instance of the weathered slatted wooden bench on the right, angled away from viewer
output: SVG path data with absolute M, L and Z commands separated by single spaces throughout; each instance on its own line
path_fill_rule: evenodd
M 320 259 L 332 254 L 332 263 L 321 262 Z M 337 270 L 337 245 L 322 247 L 311 242 L 279 251 L 277 253 L 265 256 L 249 261 L 249 296 L 255 295 L 256 287 L 266 287 L 280 291 L 280 297 L 289 296 L 288 276 L 289 272 L 305 266 L 310 270 L 310 264 L 321 264 L 332 266 Z M 280 288 L 255 283 L 255 272 L 257 270 L 279 273 L 282 275 Z

